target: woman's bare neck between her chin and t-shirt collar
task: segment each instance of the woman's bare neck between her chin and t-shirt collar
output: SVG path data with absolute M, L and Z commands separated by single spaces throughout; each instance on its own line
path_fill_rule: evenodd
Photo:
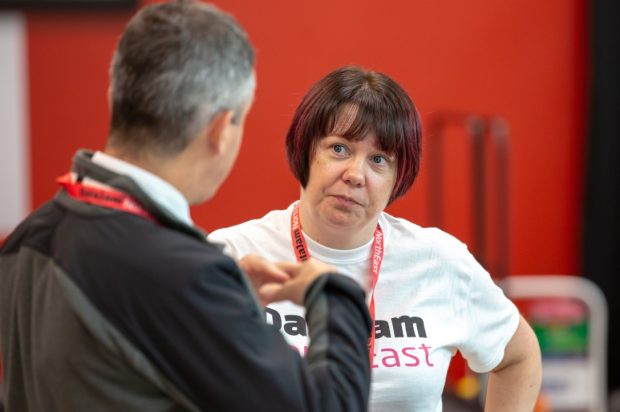
M 372 239 L 377 222 L 364 227 L 336 226 L 321 220 L 320 216 L 299 201 L 299 219 L 306 235 L 313 241 L 340 250 L 350 250 L 363 246 Z

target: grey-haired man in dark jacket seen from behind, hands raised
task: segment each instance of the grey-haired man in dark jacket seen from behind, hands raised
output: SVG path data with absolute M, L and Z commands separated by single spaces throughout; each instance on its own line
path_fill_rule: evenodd
M 191 220 L 236 159 L 254 88 L 247 35 L 217 8 L 129 22 L 105 151 L 78 151 L 0 249 L 7 410 L 366 409 L 363 291 L 318 261 L 237 265 Z M 283 299 L 307 308 L 305 358 L 264 322 L 259 300 Z

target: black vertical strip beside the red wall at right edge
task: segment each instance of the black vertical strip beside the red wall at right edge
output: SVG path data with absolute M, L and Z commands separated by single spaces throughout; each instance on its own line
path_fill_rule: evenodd
M 586 191 L 583 274 L 609 304 L 610 411 L 620 411 L 620 2 L 594 0 L 591 21 L 589 131 L 584 151 Z

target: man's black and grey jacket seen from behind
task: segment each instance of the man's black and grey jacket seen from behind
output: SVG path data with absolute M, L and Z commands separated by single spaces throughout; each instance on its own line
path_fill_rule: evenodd
M 9 236 L 8 411 L 366 409 L 370 318 L 357 285 L 312 284 L 302 359 L 264 322 L 233 260 L 90 156 L 78 152 L 74 171 L 133 195 L 157 223 L 61 190 Z

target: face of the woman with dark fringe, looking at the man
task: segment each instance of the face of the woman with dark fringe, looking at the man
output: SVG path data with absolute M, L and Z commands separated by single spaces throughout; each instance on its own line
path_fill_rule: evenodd
M 301 200 L 313 221 L 329 227 L 374 230 L 396 181 L 397 160 L 383 152 L 374 133 L 352 141 L 319 140 Z

